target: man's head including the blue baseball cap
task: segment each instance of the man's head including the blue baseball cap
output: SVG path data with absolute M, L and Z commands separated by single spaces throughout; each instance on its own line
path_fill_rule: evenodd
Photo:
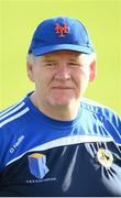
M 42 22 L 28 54 L 28 75 L 35 82 L 34 103 L 48 116 L 54 109 L 77 110 L 96 75 L 95 53 L 85 26 L 76 19 Z M 66 111 L 64 111 L 66 112 Z

